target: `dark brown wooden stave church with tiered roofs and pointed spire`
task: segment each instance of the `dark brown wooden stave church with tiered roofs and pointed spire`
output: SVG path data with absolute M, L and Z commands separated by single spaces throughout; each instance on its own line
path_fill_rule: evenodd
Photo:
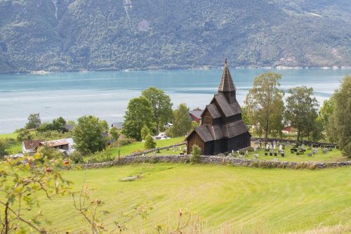
M 242 110 L 237 102 L 236 90 L 226 59 L 218 93 L 206 105 L 200 126 L 186 138 L 188 155 L 193 145 L 199 145 L 201 155 L 217 155 L 251 145 L 249 128 L 241 119 Z

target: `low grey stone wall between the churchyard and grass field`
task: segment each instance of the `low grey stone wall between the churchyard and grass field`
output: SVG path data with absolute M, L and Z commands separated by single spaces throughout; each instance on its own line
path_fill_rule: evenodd
M 157 156 L 128 156 L 121 160 L 111 162 L 101 162 L 93 164 L 81 164 L 84 169 L 114 167 L 121 164 L 132 163 L 157 163 L 157 162 L 173 162 L 186 163 L 190 162 L 190 155 L 157 155 Z M 260 168 L 286 168 L 286 169 L 325 169 L 333 167 L 351 166 L 351 161 L 345 162 L 273 162 L 265 160 L 246 160 L 237 157 L 221 157 L 221 156 L 201 156 L 200 163 L 205 164 L 231 164 L 239 167 L 260 167 Z

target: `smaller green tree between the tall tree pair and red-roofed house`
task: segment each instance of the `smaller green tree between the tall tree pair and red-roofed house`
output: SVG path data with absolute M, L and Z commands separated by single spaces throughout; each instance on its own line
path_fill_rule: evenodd
M 171 136 L 185 136 L 192 128 L 192 120 L 189 116 L 189 108 L 185 103 L 180 103 L 178 109 L 174 111 L 173 126 L 170 127 L 169 132 Z

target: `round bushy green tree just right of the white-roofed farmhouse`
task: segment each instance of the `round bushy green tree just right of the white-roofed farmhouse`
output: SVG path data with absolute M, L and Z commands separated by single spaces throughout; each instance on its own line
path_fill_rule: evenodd
M 107 138 L 102 136 L 104 130 L 97 117 L 92 115 L 80 117 L 78 125 L 73 129 L 75 148 L 82 155 L 88 155 L 105 149 Z

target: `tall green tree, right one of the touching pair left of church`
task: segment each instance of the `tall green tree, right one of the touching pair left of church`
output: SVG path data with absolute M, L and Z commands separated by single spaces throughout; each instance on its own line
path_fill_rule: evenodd
M 171 122 L 173 117 L 171 98 L 161 89 L 150 87 L 141 92 L 142 96 L 150 101 L 154 122 L 156 123 L 156 132 L 164 127 L 167 122 Z

